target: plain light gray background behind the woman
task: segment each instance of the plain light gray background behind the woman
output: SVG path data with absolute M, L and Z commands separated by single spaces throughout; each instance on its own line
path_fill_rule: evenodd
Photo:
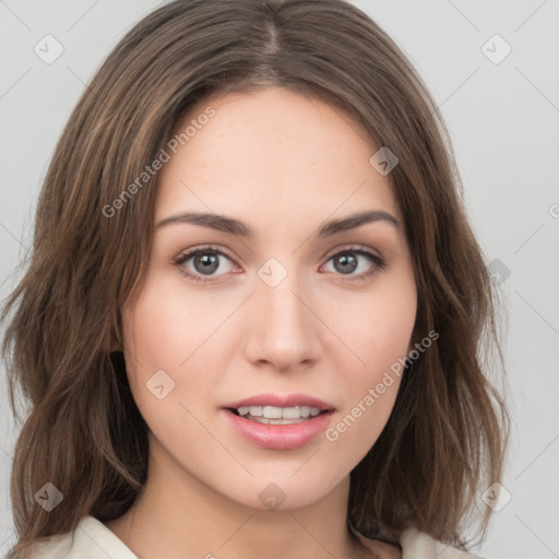
M 66 120 L 122 35 L 162 2 L 0 0 L 0 297 L 20 276 L 40 182 Z M 486 558 L 559 557 L 559 1 L 356 0 L 415 63 L 450 128 L 465 202 L 501 288 L 513 433 Z M 47 34 L 52 64 L 34 52 Z M 500 63 L 481 47 L 499 34 Z M 493 56 L 501 46 L 489 43 Z M 0 554 L 12 542 L 16 432 L 0 393 Z

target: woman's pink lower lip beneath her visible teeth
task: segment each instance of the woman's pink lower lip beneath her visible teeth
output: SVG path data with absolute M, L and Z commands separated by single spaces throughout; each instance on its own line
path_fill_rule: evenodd
M 243 439 L 258 447 L 272 450 L 292 450 L 304 447 L 326 429 L 330 416 L 334 413 L 329 411 L 300 424 L 271 425 L 245 419 L 229 409 L 222 409 L 222 412 L 229 425 Z

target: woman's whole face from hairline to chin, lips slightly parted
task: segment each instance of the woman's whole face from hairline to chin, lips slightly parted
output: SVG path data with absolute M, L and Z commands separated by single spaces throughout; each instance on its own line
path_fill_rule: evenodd
M 199 102 L 180 133 L 145 284 L 122 313 L 151 455 L 249 507 L 312 503 L 374 444 L 412 347 L 416 285 L 389 177 L 357 123 L 286 90 Z

